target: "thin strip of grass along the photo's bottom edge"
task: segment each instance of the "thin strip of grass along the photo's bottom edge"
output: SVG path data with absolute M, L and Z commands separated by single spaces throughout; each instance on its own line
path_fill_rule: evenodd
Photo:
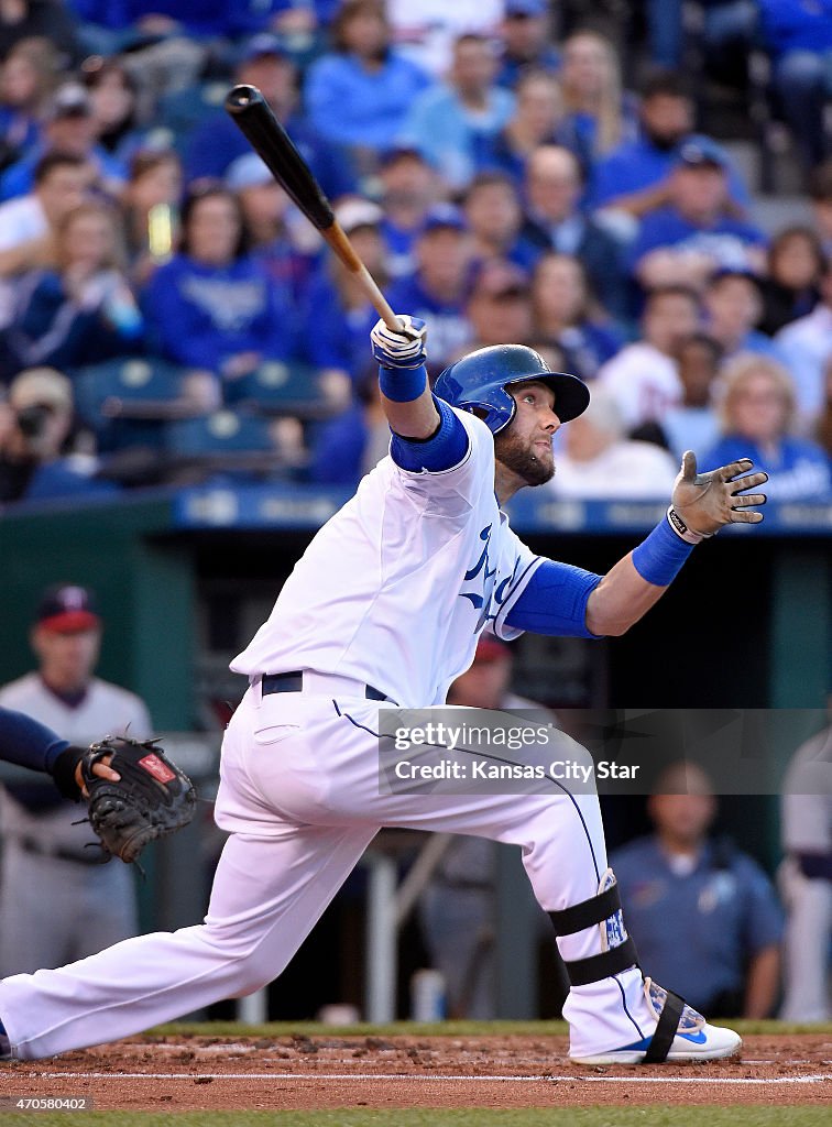
M 829 1108 L 711 1104 L 673 1108 L 516 1108 L 494 1110 L 374 1111 L 89 1111 L 65 1115 L 27 1112 L 3 1116 L 3 1127 L 821 1127 L 829 1122 Z

